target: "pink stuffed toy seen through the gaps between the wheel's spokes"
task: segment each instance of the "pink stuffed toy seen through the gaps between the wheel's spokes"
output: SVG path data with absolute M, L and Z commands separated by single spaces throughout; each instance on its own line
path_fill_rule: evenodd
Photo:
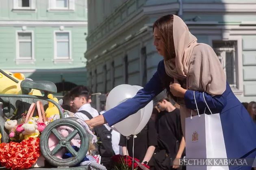
M 73 132 L 72 128 L 68 127 L 68 126 L 61 126 L 61 127 L 57 127 L 57 131 L 63 136 L 63 137 L 67 137 L 71 132 Z M 48 140 L 48 145 L 49 145 L 49 149 L 50 151 L 52 151 L 57 144 L 59 144 L 59 139 L 56 138 L 56 136 L 54 134 L 50 134 L 49 136 L 49 140 Z M 72 139 L 70 141 L 71 146 L 79 146 L 80 144 Z M 58 153 L 55 154 L 56 157 L 62 159 L 62 156 L 66 153 L 65 148 L 61 149 Z

